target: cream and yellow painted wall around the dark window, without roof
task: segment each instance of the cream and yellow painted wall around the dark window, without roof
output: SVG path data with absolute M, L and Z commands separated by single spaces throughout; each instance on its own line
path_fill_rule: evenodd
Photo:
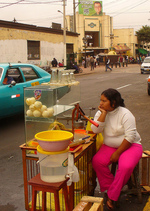
M 64 58 L 63 35 L 29 31 L 21 29 L 0 28 L 0 62 L 22 62 L 47 65 L 55 57 L 62 62 Z M 40 41 L 40 60 L 28 60 L 27 40 Z M 77 37 L 66 36 L 66 43 L 74 44 L 77 52 Z

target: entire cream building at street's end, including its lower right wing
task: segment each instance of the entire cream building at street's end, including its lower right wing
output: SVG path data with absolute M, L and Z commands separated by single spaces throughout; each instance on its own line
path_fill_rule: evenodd
M 94 2 L 93 2 L 94 4 Z M 101 15 L 84 15 L 76 13 L 76 32 L 78 37 L 78 53 L 82 56 L 88 54 L 107 54 L 109 51 L 116 51 L 118 55 L 136 57 L 137 37 L 133 28 L 113 29 L 113 18 L 102 12 Z M 72 30 L 73 17 L 66 16 L 68 29 Z M 86 45 L 84 44 L 84 38 Z M 116 47 L 117 46 L 117 47 Z M 118 50 L 120 48 L 120 50 Z

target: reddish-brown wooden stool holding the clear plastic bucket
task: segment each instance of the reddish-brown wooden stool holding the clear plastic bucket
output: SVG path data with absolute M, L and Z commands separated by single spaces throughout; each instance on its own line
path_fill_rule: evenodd
M 29 185 L 32 186 L 32 209 L 31 211 L 36 211 L 36 195 L 37 191 L 42 191 L 42 211 L 46 211 L 46 192 L 54 193 L 55 199 L 55 210 L 60 211 L 59 205 L 59 190 L 63 189 L 66 211 L 69 210 L 69 200 L 68 200 L 68 190 L 67 190 L 67 181 L 57 182 L 57 183 L 48 183 L 43 182 L 40 178 L 40 174 L 33 177 L 28 181 Z

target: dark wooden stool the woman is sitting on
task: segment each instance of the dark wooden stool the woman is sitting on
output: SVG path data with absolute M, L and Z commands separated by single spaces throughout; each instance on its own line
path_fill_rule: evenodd
M 111 166 L 111 173 L 115 175 L 116 168 L 118 163 L 112 163 Z M 138 196 L 138 201 L 142 203 L 142 192 L 141 192 L 141 186 L 140 186 L 140 180 L 139 180 L 139 164 L 137 164 L 133 170 L 133 173 L 127 183 L 129 190 L 128 193 L 135 193 Z

